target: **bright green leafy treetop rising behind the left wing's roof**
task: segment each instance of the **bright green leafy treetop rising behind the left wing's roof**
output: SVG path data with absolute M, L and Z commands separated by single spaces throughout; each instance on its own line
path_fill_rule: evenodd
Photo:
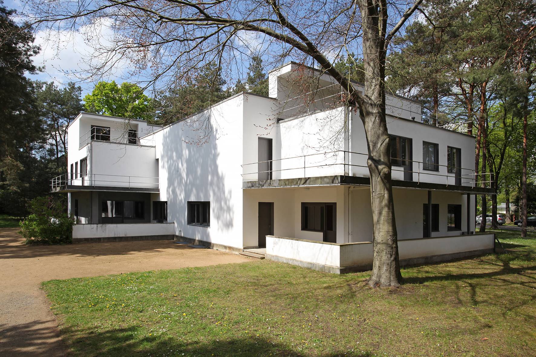
M 100 81 L 91 94 L 84 97 L 89 113 L 120 116 L 129 119 L 154 120 L 153 101 L 136 84 Z

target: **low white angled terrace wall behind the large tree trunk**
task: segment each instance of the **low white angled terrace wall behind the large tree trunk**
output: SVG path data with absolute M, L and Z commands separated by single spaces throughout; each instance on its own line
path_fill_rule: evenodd
M 493 247 L 493 234 L 421 238 L 398 242 L 401 260 L 491 249 Z M 266 254 L 302 262 L 346 267 L 372 264 L 373 243 L 337 244 L 267 235 Z

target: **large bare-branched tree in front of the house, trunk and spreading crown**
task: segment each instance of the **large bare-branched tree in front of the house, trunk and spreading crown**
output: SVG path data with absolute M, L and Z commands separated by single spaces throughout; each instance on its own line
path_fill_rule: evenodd
M 385 121 L 385 55 L 393 36 L 422 0 L 28 0 L 33 23 L 49 31 L 107 26 L 109 46 L 96 48 L 92 74 L 121 61 L 132 73 L 151 73 L 146 85 L 173 86 L 209 63 L 227 69 L 258 44 L 272 63 L 314 64 L 345 91 L 359 110 L 368 143 L 367 165 L 374 224 L 371 286 L 398 286 L 397 231 L 391 182 L 390 137 Z M 252 41 L 252 39 L 254 41 Z M 255 42 L 252 44 L 252 42 Z M 351 49 L 351 50 L 348 50 Z M 334 57 L 362 50 L 364 92 L 338 71 Z M 266 61 L 270 64 L 269 61 Z M 132 74 L 131 73 L 131 74 Z

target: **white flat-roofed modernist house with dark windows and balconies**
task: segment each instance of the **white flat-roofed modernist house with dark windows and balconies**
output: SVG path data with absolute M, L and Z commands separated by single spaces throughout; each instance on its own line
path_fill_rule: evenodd
M 296 85 L 309 73 L 315 87 Z M 68 128 L 75 241 L 178 239 L 314 269 L 372 261 L 367 145 L 359 112 L 331 77 L 296 63 L 270 96 L 236 94 L 166 127 L 80 113 Z M 308 88 L 311 88 L 309 85 Z M 388 95 L 402 263 L 481 254 L 474 234 L 475 139 L 421 122 L 419 102 Z M 265 249 L 265 250 L 264 250 Z

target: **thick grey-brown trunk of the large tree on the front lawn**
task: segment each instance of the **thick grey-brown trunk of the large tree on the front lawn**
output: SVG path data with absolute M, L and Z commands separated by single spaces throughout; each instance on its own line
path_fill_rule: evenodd
M 399 286 L 397 227 L 391 181 L 391 145 L 385 120 L 385 28 L 384 11 L 368 2 L 360 4 L 363 19 L 364 100 L 359 106 L 367 136 L 370 196 L 373 212 L 373 269 L 370 286 Z

